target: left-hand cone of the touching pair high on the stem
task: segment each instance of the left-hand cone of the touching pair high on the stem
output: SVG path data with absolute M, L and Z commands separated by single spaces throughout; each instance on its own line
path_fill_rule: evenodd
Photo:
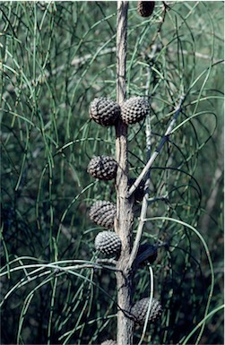
M 120 115 L 119 105 L 111 99 L 93 99 L 89 108 L 90 117 L 100 125 L 114 125 Z

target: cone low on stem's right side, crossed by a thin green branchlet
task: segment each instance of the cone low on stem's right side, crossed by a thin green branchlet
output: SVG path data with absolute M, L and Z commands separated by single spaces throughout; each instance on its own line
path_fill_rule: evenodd
M 131 314 L 134 316 L 134 321 L 136 323 L 144 323 L 145 317 L 148 312 L 150 298 L 143 298 L 136 302 L 131 308 Z M 151 310 L 148 321 L 154 322 L 161 315 L 161 305 L 157 299 L 152 298 Z

